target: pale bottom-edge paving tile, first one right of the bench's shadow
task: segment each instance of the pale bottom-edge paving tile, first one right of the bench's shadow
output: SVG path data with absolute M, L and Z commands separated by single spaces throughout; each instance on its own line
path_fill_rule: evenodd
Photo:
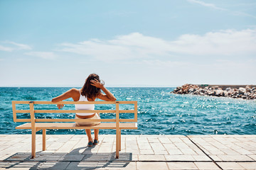
M 137 162 L 138 170 L 166 170 L 168 166 L 166 162 Z

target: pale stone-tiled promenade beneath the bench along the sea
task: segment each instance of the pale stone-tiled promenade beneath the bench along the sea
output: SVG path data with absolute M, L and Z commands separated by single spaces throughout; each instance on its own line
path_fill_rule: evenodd
M 0 169 L 256 169 L 256 135 L 122 135 L 114 159 L 115 135 L 85 147 L 85 135 L 0 135 Z

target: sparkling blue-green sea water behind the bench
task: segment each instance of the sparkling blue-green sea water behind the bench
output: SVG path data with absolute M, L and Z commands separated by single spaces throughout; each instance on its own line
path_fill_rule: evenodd
M 68 87 L 0 87 L 0 134 L 30 134 L 31 130 L 15 130 L 11 101 L 50 101 Z M 107 88 L 117 101 L 138 101 L 138 130 L 122 130 L 130 135 L 256 135 L 256 101 L 210 96 L 171 94 L 174 88 Z M 71 101 L 71 100 L 69 100 Z M 52 106 L 55 107 L 55 106 Z M 96 109 L 114 106 L 96 106 Z M 75 109 L 65 106 L 64 109 Z M 18 108 L 20 109 L 20 108 Z M 23 108 L 28 109 L 28 108 Z M 123 108 L 126 109 L 126 108 Z M 28 118 L 29 115 L 20 115 Z M 123 114 L 122 118 L 129 118 Z M 37 118 L 56 114 L 38 113 Z M 102 113 L 101 118 L 113 118 Z M 75 118 L 74 113 L 58 118 Z M 41 133 L 41 132 L 38 132 Z M 114 134 L 100 130 L 100 134 Z M 84 130 L 47 130 L 47 134 L 85 134 Z

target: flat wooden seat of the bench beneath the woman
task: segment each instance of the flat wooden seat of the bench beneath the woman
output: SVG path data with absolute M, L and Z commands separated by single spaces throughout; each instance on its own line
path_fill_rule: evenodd
M 37 129 L 115 129 L 116 123 L 100 123 L 100 125 L 87 126 L 75 123 L 36 123 Z M 120 129 L 137 129 L 137 123 L 119 123 Z M 31 123 L 19 125 L 16 129 L 31 129 Z

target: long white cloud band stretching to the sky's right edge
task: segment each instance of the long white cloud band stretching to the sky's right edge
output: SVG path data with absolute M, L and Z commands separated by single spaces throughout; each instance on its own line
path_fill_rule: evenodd
M 87 40 L 60 44 L 59 51 L 73 52 L 101 61 L 160 60 L 170 57 L 246 57 L 256 54 L 256 29 L 219 30 L 204 35 L 185 34 L 163 40 L 131 33 L 113 40 Z

